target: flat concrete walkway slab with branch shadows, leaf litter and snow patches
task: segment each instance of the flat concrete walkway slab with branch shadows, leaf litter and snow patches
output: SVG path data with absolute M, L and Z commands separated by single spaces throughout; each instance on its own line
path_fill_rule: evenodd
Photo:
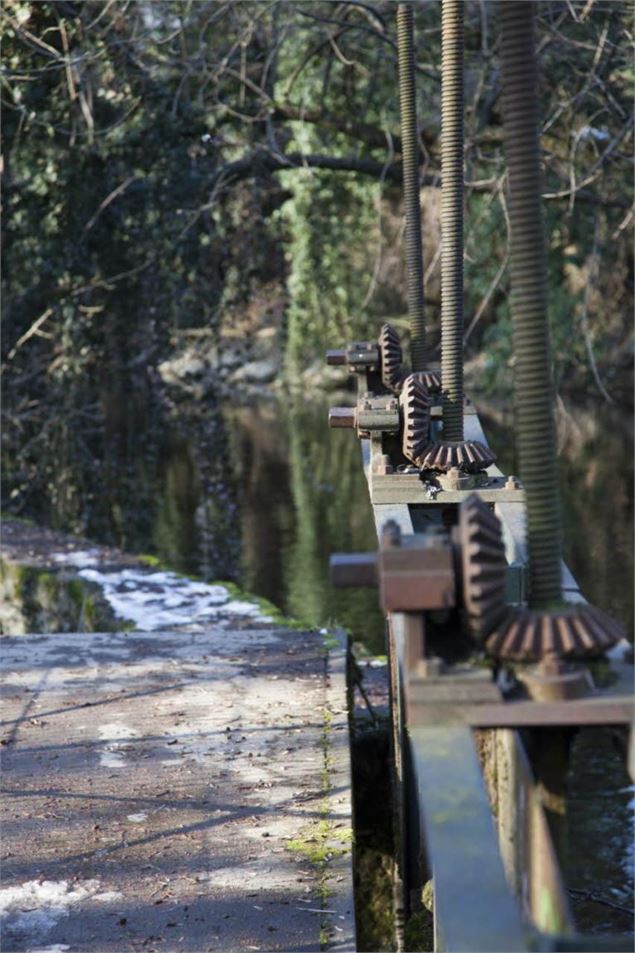
M 2 661 L 5 953 L 355 948 L 341 639 L 225 620 Z

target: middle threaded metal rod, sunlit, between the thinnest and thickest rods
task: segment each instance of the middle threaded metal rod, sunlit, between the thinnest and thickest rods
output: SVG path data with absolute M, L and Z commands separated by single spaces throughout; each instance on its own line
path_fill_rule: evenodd
M 463 0 L 443 0 L 441 380 L 443 439 L 463 440 Z

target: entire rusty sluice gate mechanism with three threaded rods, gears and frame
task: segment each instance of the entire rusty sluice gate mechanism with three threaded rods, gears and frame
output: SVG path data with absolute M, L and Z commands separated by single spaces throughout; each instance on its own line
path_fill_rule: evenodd
M 377 586 L 386 614 L 396 921 L 417 912 L 432 881 L 435 950 L 632 942 L 577 934 L 561 872 L 571 733 L 614 726 L 625 738 L 632 648 L 562 562 L 534 18 L 531 2 L 499 5 L 519 478 L 496 466 L 463 388 L 461 0 L 442 3 L 441 374 L 424 321 L 408 4 L 397 30 L 411 366 L 390 325 L 327 355 L 357 378 L 356 405 L 332 408 L 329 424 L 361 440 L 379 544 L 334 555 L 331 574 Z

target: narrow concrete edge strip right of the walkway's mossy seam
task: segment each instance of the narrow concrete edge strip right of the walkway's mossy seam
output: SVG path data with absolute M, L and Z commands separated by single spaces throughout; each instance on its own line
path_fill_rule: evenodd
M 343 830 L 345 839 L 335 839 L 334 846 L 348 847 L 346 853 L 338 853 L 327 867 L 326 886 L 329 896 L 327 909 L 332 927 L 326 949 L 348 953 L 357 949 L 355 929 L 355 899 L 353 891 L 353 842 L 349 840 L 353 824 L 353 786 L 351 773 L 351 743 L 348 712 L 347 660 L 348 635 L 341 629 L 329 631 L 326 655 L 326 709 L 328 723 L 328 749 L 330 790 L 328 794 L 328 818 L 334 832 Z M 333 644 L 337 642 L 337 644 Z M 327 722 L 325 721 L 325 725 Z

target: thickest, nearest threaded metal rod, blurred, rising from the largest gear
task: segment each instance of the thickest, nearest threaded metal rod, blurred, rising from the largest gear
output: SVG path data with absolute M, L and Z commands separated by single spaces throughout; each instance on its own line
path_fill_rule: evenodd
M 527 508 L 529 604 L 543 609 L 562 598 L 562 531 L 547 324 L 534 3 L 505 0 L 499 4 L 499 16 L 516 358 L 514 410 Z

